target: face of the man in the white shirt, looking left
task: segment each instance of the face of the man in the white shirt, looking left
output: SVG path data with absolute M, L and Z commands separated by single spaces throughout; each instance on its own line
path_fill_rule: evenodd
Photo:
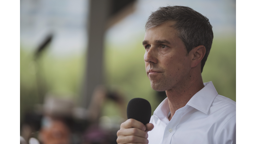
M 190 77 L 190 59 L 182 40 L 167 21 L 145 33 L 145 67 L 151 87 L 157 91 L 182 88 Z

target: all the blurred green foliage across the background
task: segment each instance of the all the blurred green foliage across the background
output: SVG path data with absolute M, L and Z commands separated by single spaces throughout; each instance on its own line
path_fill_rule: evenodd
M 104 55 L 105 85 L 109 89 L 121 91 L 126 101 L 135 97 L 147 99 L 152 113 L 160 103 L 156 91 L 150 87 L 145 72 L 144 53 L 141 44 L 143 36 L 135 43 L 124 46 L 107 44 Z M 54 57 L 47 51 L 38 62 L 33 62 L 33 54 L 20 49 L 20 112 L 32 108 L 39 102 L 36 72 L 39 70 L 43 93 L 79 96 L 84 76 L 84 55 Z M 236 41 L 235 37 L 214 38 L 212 49 L 206 61 L 203 81 L 212 81 L 220 95 L 236 100 Z M 79 97 L 74 97 L 79 100 Z M 120 114 L 115 103 L 106 101 L 102 115 Z

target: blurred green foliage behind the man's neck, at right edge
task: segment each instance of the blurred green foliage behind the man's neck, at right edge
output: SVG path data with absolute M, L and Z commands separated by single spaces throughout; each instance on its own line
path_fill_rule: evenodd
M 236 39 L 214 38 L 202 77 L 212 81 L 220 95 L 236 101 Z

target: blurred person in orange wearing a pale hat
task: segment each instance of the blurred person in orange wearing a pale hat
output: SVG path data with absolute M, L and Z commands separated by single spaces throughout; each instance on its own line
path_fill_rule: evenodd
M 47 97 L 39 140 L 43 144 L 70 144 L 73 101 Z

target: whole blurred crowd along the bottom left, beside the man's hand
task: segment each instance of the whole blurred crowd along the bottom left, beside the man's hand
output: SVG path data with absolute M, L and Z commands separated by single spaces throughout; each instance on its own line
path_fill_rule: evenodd
M 114 101 L 122 115 L 102 116 L 106 100 Z M 124 97 L 95 88 L 88 109 L 71 99 L 47 95 L 43 105 L 27 111 L 20 128 L 20 144 L 116 144 L 116 133 L 127 119 Z

